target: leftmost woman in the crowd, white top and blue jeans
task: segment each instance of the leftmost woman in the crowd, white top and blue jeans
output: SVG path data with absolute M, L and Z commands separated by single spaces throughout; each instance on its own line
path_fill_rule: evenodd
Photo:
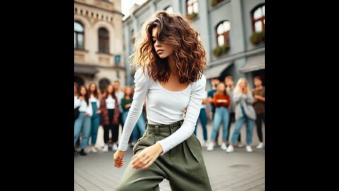
M 92 105 L 88 99 L 88 90 L 85 86 L 80 86 L 80 96 L 78 100 L 81 101 L 79 108 L 79 117 L 74 123 L 74 148 L 76 141 L 81 133 L 81 156 L 85 156 L 85 148 L 88 146 L 88 137 L 90 136 L 90 117 L 92 116 Z

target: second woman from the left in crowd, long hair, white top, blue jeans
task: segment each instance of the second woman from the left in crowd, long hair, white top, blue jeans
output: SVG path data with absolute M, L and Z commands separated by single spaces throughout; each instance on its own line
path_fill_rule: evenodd
M 88 86 L 88 91 L 90 95 L 90 103 L 92 104 L 92 112 L 93 115 L 90 117 L 90 137 L 92 146 L 90 147 L 90 151 L 92 153 L 96 153 L 97 149 L 95 149 L 95 143 L 97 141 L 97 129 L 100 125 L 100 100 L 99 100 L 99 93 L 97 91 L 97 85 L 95 83 L 90 83 L 90 86 Z M 90 144 L 90 143 L 88 143 Z

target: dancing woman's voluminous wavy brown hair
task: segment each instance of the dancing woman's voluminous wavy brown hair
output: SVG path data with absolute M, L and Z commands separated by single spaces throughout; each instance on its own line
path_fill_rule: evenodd
M 194 82 L 201 78 L 206 66 L 206 51 L 199 35 L 191 27 L 191 21 L 179 14 L 157 11 L 154 18 L 143 24 L 136 37 L 135 51 L 131 55 L 131 65 L 141 66 L 143 72 L 154 80 L 167 82 L 171 74 L 167 58 L 160 58 L 155 51 L 152 30 L 157 28 L 157 42 L 173 46 L 173 57 L 179 75 L 179 82 Z

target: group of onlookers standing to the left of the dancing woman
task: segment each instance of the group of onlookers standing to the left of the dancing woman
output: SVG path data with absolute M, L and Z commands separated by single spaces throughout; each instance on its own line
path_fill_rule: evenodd
M 105 145 L 102 151 L 107 152 L 109 148 L 116 151 L 119 127 L 124 127 L 132 100 L 133 88 L 126 86 L 123 92 L 119 81 L 107 85 L 103 93 L 95 83 L 90 83 L 87 88 L 78 87 L 78 83 L 74 82 L 74 153 L 79 152 L 81 156 L 85 156 L 88 147 L 90 152 L 97 153 L 95 143 L 100 125 L 104 129 Z M 136 127 L 131 134 L 131 146 L 145 132 L 144 115 L 139 117 Z

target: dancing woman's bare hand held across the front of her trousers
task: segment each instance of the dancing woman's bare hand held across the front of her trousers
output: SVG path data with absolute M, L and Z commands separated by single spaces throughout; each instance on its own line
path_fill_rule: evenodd
M 157 157 L 162 153 L 163 149 L 159 143 L 155 143 L 152 146 L 148 146 L 140 153 L 136 154 L 136 157 L 132 161 L 132 168 L 147 169 L 150 167 Z

